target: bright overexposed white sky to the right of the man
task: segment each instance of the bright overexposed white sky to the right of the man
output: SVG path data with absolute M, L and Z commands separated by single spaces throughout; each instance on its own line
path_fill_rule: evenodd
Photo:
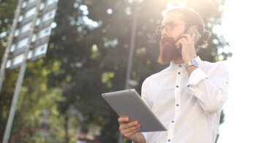
M 233 56 L 229 97 L 223 106 L 225 122 L 219 126 L 218 143 L 256 142 L 256 1 L 226 0 L 222 26 Z

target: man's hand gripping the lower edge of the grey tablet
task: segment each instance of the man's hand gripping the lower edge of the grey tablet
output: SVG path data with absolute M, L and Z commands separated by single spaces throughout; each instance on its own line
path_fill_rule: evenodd
M 118 123 L 120 124 L 119 130 L 127 139 L 132 140 L 133 142 L 145 142 L 144 136 L 140 131 L 140 124 L 138 121 L 128 123 L 128 117 L 119 117 Z

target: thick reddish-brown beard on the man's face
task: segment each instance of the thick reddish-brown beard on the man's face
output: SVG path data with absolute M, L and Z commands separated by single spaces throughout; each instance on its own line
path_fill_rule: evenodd
M 181 58 L 181 53 L 176 49 L 176 40 L 172 37 L 164 37 L 161 39 L 160 53 L 158 61 L 160 63 L 170 63 L 173 60 Z

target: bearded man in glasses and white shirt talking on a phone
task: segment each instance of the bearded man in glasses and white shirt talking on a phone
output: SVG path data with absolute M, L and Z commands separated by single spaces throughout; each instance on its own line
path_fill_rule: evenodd
M 195 33 L 186 34 L 191 26 L 202 35 L 197 45 Z M 188 7 L 170 9 L 156 31 L 162 34 L 159 61 L 170 66 L 143 82 L 141 98 L 167 131 L 139 133 L 140 123 L 119 117 L 121 134 L 136 143 L 214 143 L 229 77 L 224 63 L 196 55 L 209 37 L 202 18 Z

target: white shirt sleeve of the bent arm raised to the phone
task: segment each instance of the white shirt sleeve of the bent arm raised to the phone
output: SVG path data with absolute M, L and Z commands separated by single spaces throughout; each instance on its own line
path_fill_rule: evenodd
M 211 74 L 200 68 L 192 71 L 187 82 L 188 93 L 197 97 L 200 106 L 207 112 L 218 112 L 227 100 L 229 73 L 225 63 L 216 63 Z

